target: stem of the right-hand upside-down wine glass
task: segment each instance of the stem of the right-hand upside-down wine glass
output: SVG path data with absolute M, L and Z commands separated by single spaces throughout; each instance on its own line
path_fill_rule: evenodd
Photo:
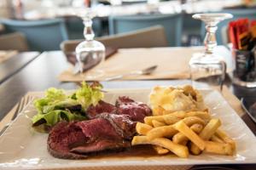
M 217 26 L 206 26 L 207 36 L 204 40 L 204 44 L 206 47 L 206 54 L 212 54 L 213 48 L 217 46 L 215 32 L 217 31 Z

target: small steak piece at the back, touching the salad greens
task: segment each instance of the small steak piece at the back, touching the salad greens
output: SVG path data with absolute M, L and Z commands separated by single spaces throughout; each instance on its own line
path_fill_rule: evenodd
M 86 114 L 88 118 L 94 119 L 97 115 L 108 112 L 111 113 L 116 110 L 116 107 L 114 105 L 111 105 L 103 100 L 100 100 L 97 105 L 90 105 L 90 107 L 87 109 Z

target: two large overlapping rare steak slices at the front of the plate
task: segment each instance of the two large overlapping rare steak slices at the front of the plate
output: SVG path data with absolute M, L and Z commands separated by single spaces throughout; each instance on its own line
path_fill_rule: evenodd
M 119 131 L 118 126 L 113 126 L 105 118 L 59 122 L 49 133 L 48 150 L 55 157 L 84 159 L 86 155 L 102 150 L 131 147 L 131 142 L 125 140 Z

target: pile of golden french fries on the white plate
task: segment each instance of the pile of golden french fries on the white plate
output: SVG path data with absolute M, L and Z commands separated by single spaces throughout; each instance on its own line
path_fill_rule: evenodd
M 166 111 L 166 115 L 146 116 L 137 122 L 138 135 L 131 144 L 152 144 L 162 155 L 169 152 L 183 158 L 202 152 L 232 156 L 236 143 L 218 127 L 221 122 L 208 111 Z

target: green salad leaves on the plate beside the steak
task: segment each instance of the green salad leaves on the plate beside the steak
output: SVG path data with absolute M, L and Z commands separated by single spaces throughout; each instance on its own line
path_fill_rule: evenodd
M 87 108 L 96 105 L 103 97 L 102 85 L 98 82 L 91 85 L 82 82 L 81 88 L 72 95 L 65 94 L 62 89 L 49 88 L 44 98 L 34 101 L 38 114 L 32 117 L 32 126 L 38 127 L 43 124 L 52 127 L 62 120 L 67 122 L 85 120 Z

